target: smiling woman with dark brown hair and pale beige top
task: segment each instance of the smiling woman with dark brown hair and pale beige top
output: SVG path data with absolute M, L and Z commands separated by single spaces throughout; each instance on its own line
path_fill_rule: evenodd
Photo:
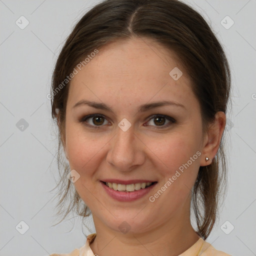
M 66 214 L 91 212 L 96 233 L 57 255 L 228 255 L 204 239 L 225 182 L 229 88 L 221 45 L 186 4 L 105 0 L 88 11 L 51 94 L 60 169 L 62 146 L 68 160 L 59 206 L 75 188 Z

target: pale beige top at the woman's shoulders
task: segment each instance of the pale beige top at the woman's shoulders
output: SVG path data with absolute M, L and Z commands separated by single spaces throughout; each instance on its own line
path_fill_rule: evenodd
M 89 234 L 85 244 L 79 249 L 74 249 L 70 253 L 53 253 L 49 256 L 94 256 L 90 248 L 90 243 L 93 242 L 96 233 Z M 100 256 L 100 255 L 99 255 Z M 222 251 L 214 249 L 210 243 L 204 241 L 202 238 L 199 238 L 190 248 L 188 248 L 183 253 L 178 256 L 231 256 Z

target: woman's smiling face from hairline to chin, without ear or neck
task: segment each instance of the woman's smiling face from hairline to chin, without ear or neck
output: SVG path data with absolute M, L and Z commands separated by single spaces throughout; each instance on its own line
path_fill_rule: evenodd
M 64 147 L 80 175 L 74 185 L 107 228 L 126 221 L 148 231 L 188 213 L 203 144 L 199 102 L 174 52 L 156 42 L 98 50 L 68 92 Z

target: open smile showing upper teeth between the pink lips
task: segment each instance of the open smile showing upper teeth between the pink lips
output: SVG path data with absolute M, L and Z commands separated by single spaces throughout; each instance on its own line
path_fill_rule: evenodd
M 137 182 L 137 183 L 123 184 L 123 183 L 107 182 L 102 180 L 100 180 L 100 182 L 103 183 L 105 186 L 111 188 L 112 190 L 122 191 L 122 192 L 133 192 L 137 190 L 142 190 L 157 183 L 157 181 L 152 181 L 152 182 L 150 181 L 150 182 Z

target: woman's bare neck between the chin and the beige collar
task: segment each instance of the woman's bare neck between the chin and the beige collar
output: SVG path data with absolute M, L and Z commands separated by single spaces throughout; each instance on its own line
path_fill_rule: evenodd
M 146 232 L 122 233 L 113 230 L 93 216 L 96 237 L 90 244 L 93 253 L 98 256 L 141 256 L 179 255 L 191 247 L 198 239 L 190 223 L 190 217 L 176 216 Z

